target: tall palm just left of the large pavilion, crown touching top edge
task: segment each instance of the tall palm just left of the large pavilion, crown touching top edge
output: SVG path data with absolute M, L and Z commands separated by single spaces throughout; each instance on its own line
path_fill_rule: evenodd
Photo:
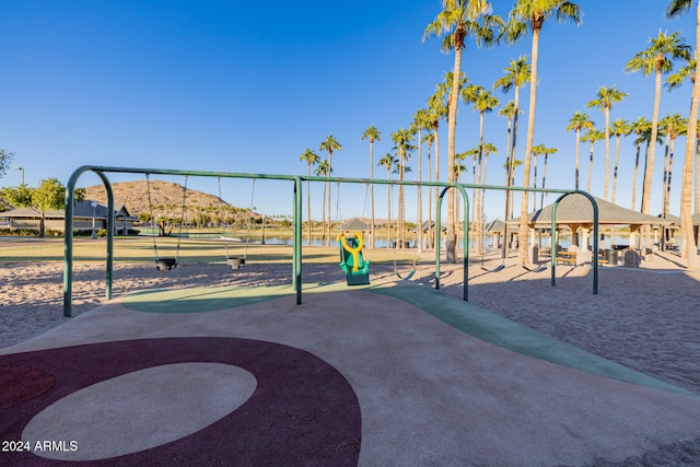
M 506 25 L 506 39 L 516 42 L 525 36 L 528 28 L 533 32 L 532 44 L 532 78 L 529 87 L 529 109 L 527 115 L 527 138 L 525 142 L 525 162 L 523 164 L 523 186 L 529 183 L 529 168 L 532 162 L 533 141 L 535 139 L 535 107 L 537 103 L 537 60 L 539 57 L 539 34 L 545 21 L 552 14 L 558 22 L 573 21 L 581 23 L 579 5 L 568 0 L 516 0 L 509 14 Z M 520 225 L 520 259 L 523 265 L 527 262 L 527 191 L 523 191 L 521 202 Z

